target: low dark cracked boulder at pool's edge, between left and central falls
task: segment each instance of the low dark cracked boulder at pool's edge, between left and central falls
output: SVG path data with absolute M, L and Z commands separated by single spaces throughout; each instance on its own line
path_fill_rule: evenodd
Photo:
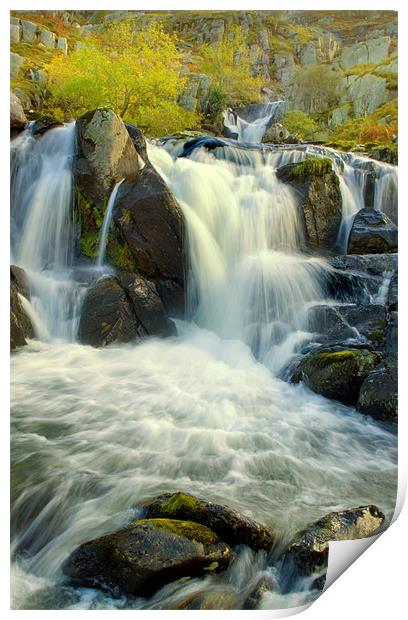
M 94 347 L 129 342 L 146 335 L 176 333 L 152 282 L 119 272 L 88 289 L 82 305 L 79 340 Z

